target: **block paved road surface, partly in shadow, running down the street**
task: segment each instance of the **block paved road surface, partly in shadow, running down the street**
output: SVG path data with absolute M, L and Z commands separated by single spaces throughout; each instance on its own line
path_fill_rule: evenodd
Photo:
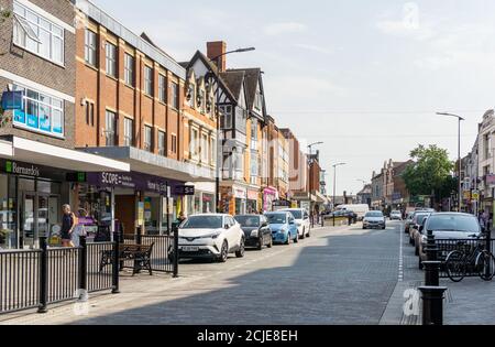
M 86 316 L 63 305 L 0 324 L 376 325 L 398 282 L 400 230 L 398 223 L 319 229 L 226 264 L 184 262 L 177 280 L 124 278 L 122 293 L 91 297 Z

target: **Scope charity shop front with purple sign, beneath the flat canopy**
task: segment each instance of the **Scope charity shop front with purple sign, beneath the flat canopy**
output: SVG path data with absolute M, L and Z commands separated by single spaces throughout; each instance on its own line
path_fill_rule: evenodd
M 164 235 L 182 210 L 176 195 L 183 182 L 138 172 L 91 173 L 78 184 L 78 209 L 86 215 L 87 228 L 111 238 L 114 228 L 132 236 L 138 227 L 145 235 Z M 99 238 L 99 236 L 95 236 Z

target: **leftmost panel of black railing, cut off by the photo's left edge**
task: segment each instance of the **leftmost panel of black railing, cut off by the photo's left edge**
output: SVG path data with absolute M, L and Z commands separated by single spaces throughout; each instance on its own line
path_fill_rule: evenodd
M 40 304 L 41 250 L 0 252 L 0 313 Z

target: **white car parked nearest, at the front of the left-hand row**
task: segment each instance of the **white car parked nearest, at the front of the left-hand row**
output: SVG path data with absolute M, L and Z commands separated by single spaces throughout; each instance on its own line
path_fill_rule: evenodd
M 206 214 L 187 218 L 178 229 L 180 258 L 212 258 L 226 262 L 230 253 L 244 257 L 244 232 L 230 215 Z

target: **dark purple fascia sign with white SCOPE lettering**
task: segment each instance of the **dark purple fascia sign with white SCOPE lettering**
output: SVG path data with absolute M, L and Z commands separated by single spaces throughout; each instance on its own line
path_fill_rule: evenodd
M 173 180 L 165 180 L 142 173 L 100 172 L 88 173 L 87 183 L 99 187 L 116 187 L 133 191 L 153 192 L 166 195 L 167 186 L 174 192 L 175 186 L 184 184 Z

